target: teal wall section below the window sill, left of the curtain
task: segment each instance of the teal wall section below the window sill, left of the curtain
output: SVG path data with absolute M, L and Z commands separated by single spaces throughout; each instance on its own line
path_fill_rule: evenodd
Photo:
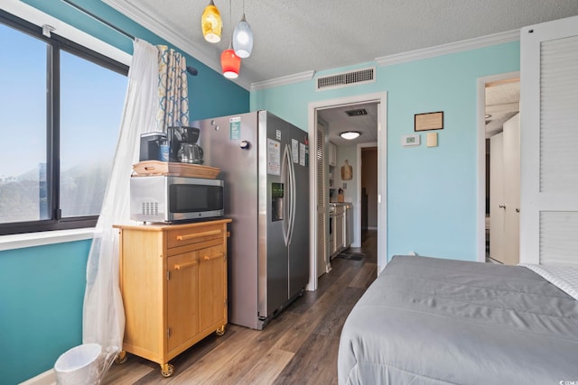
M 89 249 L 77 241 L 0 252 L 0 382 L 47 371 L 81 344 Z

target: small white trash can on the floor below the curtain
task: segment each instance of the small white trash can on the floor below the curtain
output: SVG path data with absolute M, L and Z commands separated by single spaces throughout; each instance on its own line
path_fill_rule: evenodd
M 81 344 L 62 353 L 54 363 L 56 383 L 59 385 L 96 385 L 117 356 L 117 346 L 106 352 L 99 344 Z

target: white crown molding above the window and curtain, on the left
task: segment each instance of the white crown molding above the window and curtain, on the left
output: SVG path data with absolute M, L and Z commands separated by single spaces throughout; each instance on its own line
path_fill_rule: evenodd
M 126 17 L 128 17 L 135 23 L 142 25 L 147 30 L 154 32 L 156 35 L 163 38 L 165 41 L 169 41 L 174 46 L 179 47 L 181 50 L 184 50 L 194 59 L 199 60 L 201 63 L 205 64 L 210 69 L 213 69 L 216 72 L 220 73 L 221 68 L 219 58 L 215 57 L 214 55 L 207 54 L 207 51 L 201 48 L 199 45 L 183 39 L 182 35 L 174 31 L 172 28 L 163 25 L 162 23 L 159 23 L 159 21 L 155 19 L 154 16 L 146 14 L 140 8 L 126 1 L 102 0 L 102 2 L 107 5 L 110 5 L 111 7 L 116 9 L 121 14 L 124 14 Z M 247 80 L 244 80 L 242 76 L 231 81 L 247 90 L 249 90 L 250 88 L 249 82 Z

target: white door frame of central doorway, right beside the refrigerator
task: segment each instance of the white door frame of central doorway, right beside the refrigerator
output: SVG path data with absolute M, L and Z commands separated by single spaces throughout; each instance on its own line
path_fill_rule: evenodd
M 339 105 L 361 103 L 378 103 L 378 273 L 387 264 L 387 92 L 345 96 L 311 102 L 308 105 L 309 148 L 317 148 L 317 109 L 331 108 Z M 309 168 L 310 197 L 317 191 L 316 168 Z M 317 213 L 317 199 L 309 200 L 310 213 Z M 305 289 L 317 289 L 317 215 L 309 215 L 310 220 L 310 270 L 309 283 Z

